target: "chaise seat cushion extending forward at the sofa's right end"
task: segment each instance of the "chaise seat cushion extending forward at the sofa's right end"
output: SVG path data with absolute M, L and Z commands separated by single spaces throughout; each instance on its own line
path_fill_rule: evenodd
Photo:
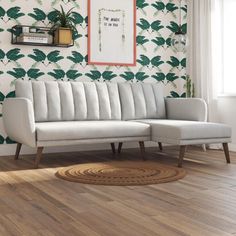
M 151 125 L 154 141 L 180 144 L 179 140 L 230 138 L 231 128 L 224 124 L 184 120 L 139 120 Z M 169 142 L 168 142 L 169 141 Z

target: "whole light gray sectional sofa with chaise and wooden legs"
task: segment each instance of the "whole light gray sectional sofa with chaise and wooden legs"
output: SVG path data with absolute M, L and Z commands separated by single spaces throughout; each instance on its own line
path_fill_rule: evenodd
M 179 164 L 186 145 L 222 143 L 227 162 L 231 128 L 207 123 L 201 99 L 164 98 L 162 86 L 147 83 L 16 82 L 16 98 L 3 104 L 8 136 L 17 145 L 37 147 L 35 167 L 43 147 L 137 141 L 180 145 Z

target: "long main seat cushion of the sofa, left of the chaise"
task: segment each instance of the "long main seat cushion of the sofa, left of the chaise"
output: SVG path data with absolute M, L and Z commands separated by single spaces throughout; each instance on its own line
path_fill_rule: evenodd
M 36 123 L 37 141 L 150 137 L 150 125 L 132 121 Z

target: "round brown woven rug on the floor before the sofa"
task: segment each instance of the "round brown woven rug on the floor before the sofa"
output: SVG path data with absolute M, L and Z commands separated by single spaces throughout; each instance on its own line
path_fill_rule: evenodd
M 184 169 L 149 161 L 79 164 L 62 168 L 56 173 L 57 177 L 71 182 L 111 186 L 166 183 L 185 175 Z

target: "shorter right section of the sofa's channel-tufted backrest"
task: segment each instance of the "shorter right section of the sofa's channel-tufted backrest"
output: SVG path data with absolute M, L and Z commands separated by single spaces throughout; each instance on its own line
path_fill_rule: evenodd
M 151 83 L 119 83 L 123 120 L 166 118 L 163 87 Z

